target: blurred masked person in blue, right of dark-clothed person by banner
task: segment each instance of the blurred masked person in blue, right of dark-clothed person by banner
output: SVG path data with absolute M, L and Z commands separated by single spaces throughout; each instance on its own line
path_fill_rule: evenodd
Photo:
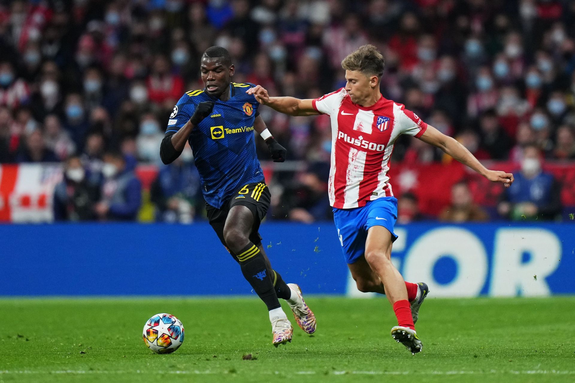
M 141 184 L 120 152 L 104 154 L 104 183 L 94 212 L 99 220 L 135 220 L 141 206 Z

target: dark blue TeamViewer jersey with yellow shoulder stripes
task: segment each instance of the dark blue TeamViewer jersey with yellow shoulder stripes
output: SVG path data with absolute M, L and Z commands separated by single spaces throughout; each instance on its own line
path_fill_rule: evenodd
M 212 114 L 191 131 L 188 142 L 202 181 L 207 203 L 221 208 L 242 185 L 263 181 L 255 152 L 254 119 L 259 103 L 246 90 L 252 84 L 230 84 L 227 101 L 204 90 L 186 92 L 170 115 L 166 133 L 181 129 L 200 102 L 215 102 Z

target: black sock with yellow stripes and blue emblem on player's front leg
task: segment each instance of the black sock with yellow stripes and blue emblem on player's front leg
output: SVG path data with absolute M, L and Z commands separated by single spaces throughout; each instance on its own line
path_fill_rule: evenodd
M 240 262 L 241 273 L 250 283 L 259 298 L 266 304 L 267 310 L 279 308 L 278 296 L 275 293 L 273 270 L 267 269 L 266 260 L 259 251 L 258 246 L 249 242 L 237 255 Z

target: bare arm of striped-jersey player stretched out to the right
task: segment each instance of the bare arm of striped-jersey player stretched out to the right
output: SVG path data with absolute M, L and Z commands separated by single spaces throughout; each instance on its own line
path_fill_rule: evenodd
M 513 175 L 502 171 L 489 170 L 484 167 L 465 146 L 459 144 L 453 137 L 446 136 L 431 125 L 427 125 L 427 130 L 419 137 L 421 141 L 437 146 L 443 152 L 458 160 L 463 165 L 467 165 L 486 179 L 493 182 L 501 182 L 505 187 L 513 183 Z

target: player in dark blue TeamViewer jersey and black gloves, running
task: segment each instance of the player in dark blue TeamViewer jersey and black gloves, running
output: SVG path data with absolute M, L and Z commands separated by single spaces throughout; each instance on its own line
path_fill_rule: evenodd
M 206 49 L 200 68 L 205 88 L 186 92 L 174 106 L 160 157 L 170 164 L 189 142 L 210 225 L 267 305 L 273 345 L 285 345 L 292 341 L 293 327 L 278 298 L 287 301 L 296 322 L 308 334 L 316 330 L 316 319 L 299 286 L 283 281 L 262 247 L 258 229 L 270 206 L 270 191 L 256 157 L 254 130 L 265 140 L 275 162 L 284 161 L 286 150 L 260 117 L 258 101 L 246 93 L 253 84 L 231 82 L 235 68 L 227 49 Z

